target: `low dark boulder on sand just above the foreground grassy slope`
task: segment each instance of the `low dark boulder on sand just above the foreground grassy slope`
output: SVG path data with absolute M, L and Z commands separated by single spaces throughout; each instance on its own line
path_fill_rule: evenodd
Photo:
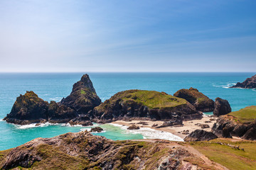
M 205 130 L 194 130 L 188 136 L 184 138 L 186 142 L 203 141 L 203 140 L 214 140 L 218 138 L 213 132 L 207 132 Z

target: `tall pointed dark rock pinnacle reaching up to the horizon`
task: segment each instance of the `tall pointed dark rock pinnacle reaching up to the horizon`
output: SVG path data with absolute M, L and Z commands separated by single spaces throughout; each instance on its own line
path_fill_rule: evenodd
M 97 96 L 88 74 L 84 74 L 80 81 L 73 85 L 70 96 L 60 101 L 61 105 L 73 108 L 82 114 L 88 113 L 96 106 L 99 106 L 100 103 L 101 100 Z

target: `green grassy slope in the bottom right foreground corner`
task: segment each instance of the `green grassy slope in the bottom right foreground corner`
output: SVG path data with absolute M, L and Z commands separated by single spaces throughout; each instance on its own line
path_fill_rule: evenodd
M 256 169 L 256 142 L 232 142 L 232 140 L 216 139 L 210 142 L 189 142 L 189 144 L 211 161 L 228 169 Z M 240 149 L 236 149 L 234 146 L 239 146 Z

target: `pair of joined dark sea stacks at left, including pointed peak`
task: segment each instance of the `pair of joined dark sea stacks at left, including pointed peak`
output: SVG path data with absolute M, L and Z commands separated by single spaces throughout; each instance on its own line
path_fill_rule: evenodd
M 8 123 L 27 125 L 30 123 L 70 123 L 70 125 L 92 125 L 92 110 L 101 103 L 92 81 L 87 74 L 73 85 L 70 96 L 60 103 L 43 101 L 33 91 L 18 96 L 11 113 L 6 115 Z

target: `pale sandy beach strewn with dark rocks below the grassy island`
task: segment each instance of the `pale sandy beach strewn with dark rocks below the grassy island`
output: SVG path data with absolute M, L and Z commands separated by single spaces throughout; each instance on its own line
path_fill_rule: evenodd
M 145 122 L 147 125 L 142 125 L 138 124 L 139 122 Z M 208 122 L 208 123 L 206 123 Z M 157 125 L 162 125 L 164 121 L 149 121 L 149 120 L 132 120 L 132 121 L 124 121 L 124 120 L 117 120 L 115 122 L 112 122 L 114 124 L 118 125 L 125 125 L 125 126 L 130 126 L 130 125 L 137 125 L 139 128 L 151 128 L 154 130 L 159 130 L 159 131 L 164 131 L 164 132 L 171 132 L 172 134 L 181 137 L 184 139 L 190 132 L 193 132 L 193 130 L 197 129 L 203 129 L 206 131 L 210 131 L 211 128 L 213 127 L 213 124 L 216 122 L 215 118 L 212 118 L 212 116 L 209 115 L 204 115 L 201 120 L 189 120 L 189 121 L 183 121 L 183 126 L 170 126 L 170 127 L 165 127 L 165 128 L 152 128 L 152 125 L 157 124 Z M 209 125 L 209 128 L 201 128 L 197 124 L 207 124 Z M 183 134 L 183 130 L 188 130 L 188 134 Z

